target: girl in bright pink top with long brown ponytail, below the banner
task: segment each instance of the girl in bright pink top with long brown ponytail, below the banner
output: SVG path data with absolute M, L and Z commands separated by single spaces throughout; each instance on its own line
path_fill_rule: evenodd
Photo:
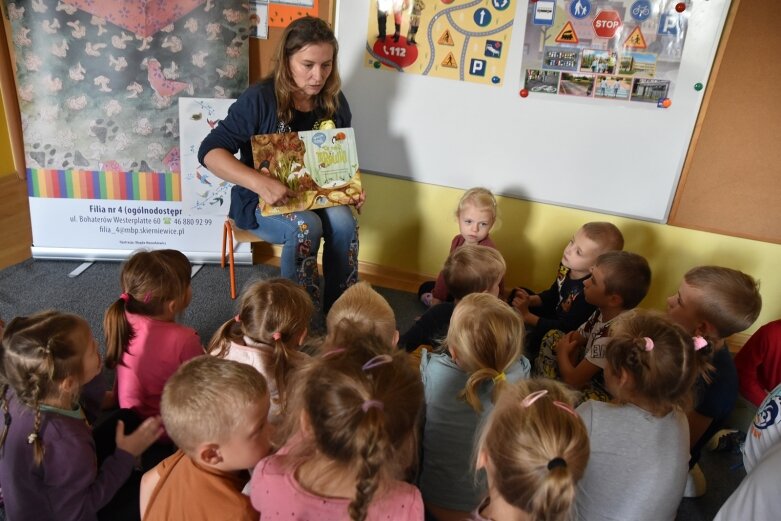
M 141 418 L 160 414 L 165 382 L 204 354 L 198 333 L 175 322 L 192 298 L 190 268 L 177 250 L 133 254 L 122 267 L 122 293 L 103 318 L 106 367 L 116 368 L 119 406 Z

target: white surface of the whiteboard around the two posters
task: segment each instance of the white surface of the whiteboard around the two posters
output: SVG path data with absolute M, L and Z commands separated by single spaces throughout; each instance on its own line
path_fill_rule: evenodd
M 512 1 L 515 22 L 501 86 L 367 67 L 370 2 L 339 2 L 339 68 L 361 169 L 666 221 L 704 93 L 694 85 L 707 86 L 729 0 L 687 2 L 688 33 L 667 109 L 544 94 L 521 98 L 528 3 Z M 439 0 L 427 1 L 433 2 Z

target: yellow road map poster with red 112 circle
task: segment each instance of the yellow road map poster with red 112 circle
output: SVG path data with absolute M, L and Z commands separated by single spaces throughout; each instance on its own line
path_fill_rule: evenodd
M 370 0 L 365 65 L 504 82 L 519 0 Z

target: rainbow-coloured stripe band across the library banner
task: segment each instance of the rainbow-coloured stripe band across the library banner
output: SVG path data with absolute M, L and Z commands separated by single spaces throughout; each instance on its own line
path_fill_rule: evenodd
M 171 172 L 27 169 L 27 195 L 57 199 L 181 201 L 181 175 Z

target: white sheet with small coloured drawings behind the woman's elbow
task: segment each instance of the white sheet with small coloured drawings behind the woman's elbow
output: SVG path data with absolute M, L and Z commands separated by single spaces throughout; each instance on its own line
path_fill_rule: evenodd
M 179 98 L 182 203 L 192 215 L 227 215 L 233 185 L 198 162 L 198 148 L 236 100 Z

